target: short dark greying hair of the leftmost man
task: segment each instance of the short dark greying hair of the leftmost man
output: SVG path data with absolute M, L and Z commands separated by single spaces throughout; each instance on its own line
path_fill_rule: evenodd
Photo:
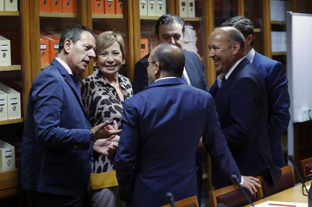
M 72 43 L 75 44 L 76 41 L 80 39 L 82 31 L 90 32 L 95 38 L 93 31 L 89 27 L 83 26 L 81 24 L 71 24 L 63 31 L 63 33 L 60 36 L 58 44 L 58 52 L 62 51 L 62 49 L 64 48 L 65 39 L 70 39 Z

